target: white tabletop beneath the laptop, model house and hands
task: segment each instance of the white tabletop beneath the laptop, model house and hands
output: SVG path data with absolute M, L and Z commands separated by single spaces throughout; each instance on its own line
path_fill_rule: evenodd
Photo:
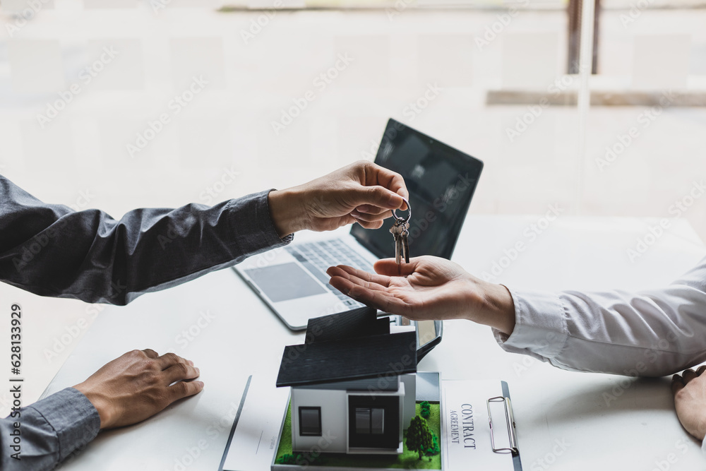
M 562 216 L 530 241 L 523 231 L 536 222 L 534 216 L 469 215 L 454 260 L 480 274 L 491 270 L 503 249 L 522 241 L 527 249 L 498 282 L 545 290 L 640 289 L 671 282 L 706 254 L 683 220 L 671 221 L 669 231 L 635 263 L 628 261 L 626 249 L 656 220 Z M 178 336 L 197 323 L 202 311 L 213 320 L 184 345 Z M 146 347 L 192 359 L 201 368 L 205 389 L 141 424 L 102 432 L 65 468 L 217 470 L 246 377 L 274 378 L 282 347 L 301 341 L 301 334 L 287 330 L 230 269 L 147 294 L 126 307 L 110 306 L 46 393 L 83 381 L 128 350 Z M 489 328 L 464 321 L 445 323 L 441 345 L 419 369 L 441 371 L 444 378 L 508 381 L 526 471 L 652 470 L 666 460 L 673 462 L 666 463 L 670 470 L 703 468 L 700 443 L 688 437 L 674 413 L 669 378 L 563 371 L 503 352 Z M 606 401 L 610 397 L 614 400 Z

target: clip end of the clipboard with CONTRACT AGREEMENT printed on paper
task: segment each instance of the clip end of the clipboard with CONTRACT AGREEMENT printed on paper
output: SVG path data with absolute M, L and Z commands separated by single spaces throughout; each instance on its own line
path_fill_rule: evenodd
M 444 380 L 442 453 L 445 471 L 522 471 L 517 424 L 508 383 Z

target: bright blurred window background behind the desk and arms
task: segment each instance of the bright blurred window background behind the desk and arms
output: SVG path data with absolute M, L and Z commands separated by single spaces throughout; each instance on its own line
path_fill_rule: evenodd
M 394 117 L 484 160 L 472 213 L 678 216 L 706 239 L 706 198 L 674 209 L 706 170 L 705 7 L 4 0 L 0 172 L 115 217 L 213 204 L 371 159 Z

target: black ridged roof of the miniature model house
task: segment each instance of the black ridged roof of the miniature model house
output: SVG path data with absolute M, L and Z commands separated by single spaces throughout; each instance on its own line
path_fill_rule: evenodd
M 306 343 L 285 347 L 277 386 L 414 373 L 417 333 L 389 332 L 389 321 L 378 319 L 372 308 L 311 319 Z

